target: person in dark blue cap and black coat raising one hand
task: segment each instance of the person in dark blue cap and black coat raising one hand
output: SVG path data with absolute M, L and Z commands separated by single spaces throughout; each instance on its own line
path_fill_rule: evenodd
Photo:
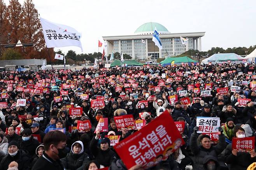
M 96 131 L 96 136 L 93 137 L 90 144 L 90 150 L 95 157 L 95 160 L 103 165 L 104 167 L 109 167 L 116 159 L 116 154 L 109 149 L 110 140 L 107 137 L 104 137 L 100 141 L 100 147 L 97 147 L 99 141 L 100 131 Z

